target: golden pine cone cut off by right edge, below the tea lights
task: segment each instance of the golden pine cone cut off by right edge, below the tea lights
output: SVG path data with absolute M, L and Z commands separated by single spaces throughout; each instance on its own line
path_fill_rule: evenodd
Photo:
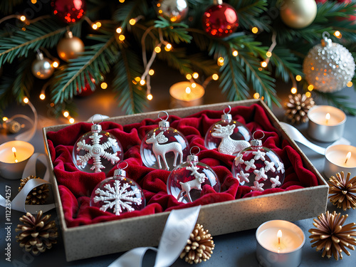
M 329 194 L 332 194 L 329 199 L 337 208 L 346 209 L 356 208 L 356 177 L 350 180 L 350 172 L 347 172 L 345 179 L 344 172 L 336 174 L 329 179 Z

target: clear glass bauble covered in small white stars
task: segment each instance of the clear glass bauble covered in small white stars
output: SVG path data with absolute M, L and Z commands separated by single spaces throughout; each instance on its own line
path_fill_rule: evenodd
M 247 185 L 251 190 L 260 192 L 281 187 L 285 176 L 282 159 L 273 150 L 263 147 L 261 140 L 254 138 L 251 140 L 251 147 L 242 150 L 235 157 L 232 174 L 240 185 Z

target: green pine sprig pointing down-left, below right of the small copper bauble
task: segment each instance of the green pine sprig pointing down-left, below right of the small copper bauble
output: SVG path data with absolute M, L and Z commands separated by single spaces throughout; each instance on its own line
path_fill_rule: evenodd
M 117 61 L 115 36 L 92 36 L 103 42 L 90 46 L 78 58 L 70 60 L 68 66 L 61 67 L 51 84 L 53 103 L 63 103 L 81 93 L 81 88 L 88 83 L 94 90 L 91 80 L 100 80 L 101 75 L 110 72 L 110 66 Z

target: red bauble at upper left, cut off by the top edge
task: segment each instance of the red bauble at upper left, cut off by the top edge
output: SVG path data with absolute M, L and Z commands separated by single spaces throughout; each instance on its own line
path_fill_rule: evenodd
M 84 0 L 54 0 L 53 14 L 63 22 L 74 23 L 83 18 L 86 11 Z

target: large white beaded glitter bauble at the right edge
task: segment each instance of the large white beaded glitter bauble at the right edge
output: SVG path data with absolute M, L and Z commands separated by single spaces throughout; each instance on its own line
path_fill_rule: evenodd
M 316 90 L 324 93 L 345 88 L 355 75 L 355 61 L 352 54 L 339 43 L 333 43 L 324 36 L 321 44 L 310 49 L 304 59 L 305 79 Z

